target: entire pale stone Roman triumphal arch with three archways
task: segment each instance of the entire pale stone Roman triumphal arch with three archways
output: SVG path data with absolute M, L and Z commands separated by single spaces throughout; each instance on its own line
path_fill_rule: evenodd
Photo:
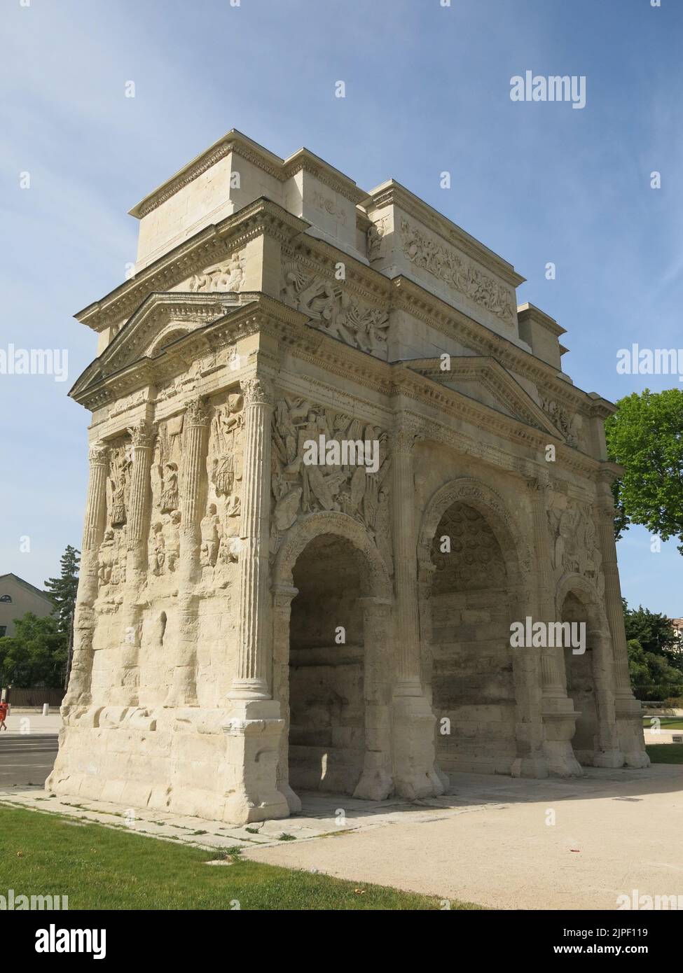
M 77 315 L 99 343 L 49 788 L 246 822 L 303 790 L 646 766 L 613 407 L 512 265 L 393 180 L 237 131 L 132 213 L 133 275 Z M 584 651 L 512 645 L 528 621 Z

